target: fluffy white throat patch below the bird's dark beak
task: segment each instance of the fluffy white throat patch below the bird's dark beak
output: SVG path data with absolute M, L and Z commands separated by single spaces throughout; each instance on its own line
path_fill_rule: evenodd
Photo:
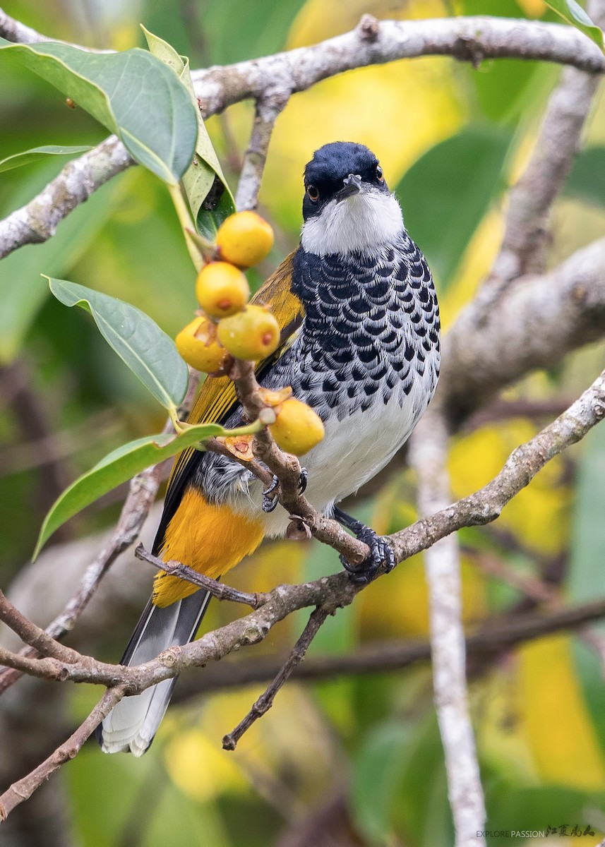
M 379 247 L 403 228 L 402 210 L 392 194 L 368 191 L 336 202 L 303 225 L 303 250 L 325 256 Z

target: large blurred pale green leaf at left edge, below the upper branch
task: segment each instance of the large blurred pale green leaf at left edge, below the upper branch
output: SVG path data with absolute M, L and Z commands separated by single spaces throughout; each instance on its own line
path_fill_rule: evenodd
M 123 175 L 102 185 L 58 226 L 53 238 L 43 244 L 28 244 L 0 262 L 0 363 L 8 364 L 19 353 L 32 321 L 48 296 L 40 274 L 63 275 L 86 252 L 99 230 L 111 217 L 122 194 Z M 47 180 L 46 180 L 47 181 Z M 39 174 L 31 174 L 24 185 L 40 190 Z M 31 197 L 32 192 L 27 192 Z

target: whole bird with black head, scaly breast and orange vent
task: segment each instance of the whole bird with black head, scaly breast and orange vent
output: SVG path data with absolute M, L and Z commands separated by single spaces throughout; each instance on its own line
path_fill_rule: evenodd
M 425 257 L 405 228 L 373 152 L 353 141 L 320 147 L 304 169 L 300 245 L 253 297 L 280 324 L 280 347 L 258 363 L 257 379 L 292 395 L 322 419 L 325 437 L 304 457 L 301 487 L 315 509 L 369 545 L 351 578 L 369 581 L 391 546 L 338 505 L 391 460 L 434 395 L 440 318 Z M 207 378 L 189 418 L 236 427 L 245 418 L 233 384 Z M 273 489 L 273 490 L 271 490 Z M 228 457 L 188 449 L 175 459 L 153 552 L 214 579 L 286 534 L 275 486 Z M 138 665 L 195 638 L 210 595 L 165 572 L 121 662 Z M 97 728 L 103 751 L 142 756 L 169 705 L 175 679 L 121 700 Z

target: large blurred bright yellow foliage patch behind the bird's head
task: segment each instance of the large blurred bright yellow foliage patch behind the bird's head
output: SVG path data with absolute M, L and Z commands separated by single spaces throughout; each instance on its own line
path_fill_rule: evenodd
M 363 12 L 377 18 L 440 16 L 443 6 L 396 3 L 393 8 L 393 3 L 309 0 L 291 27 L 288 47 L 350 30 Z M 292 97 L 280 115 L 261 199 L 281 224 L 293 228 L 300 220 L 304 165 L 322 144 L 366 144 L 380 158 L 389 185 L 394 186 L 422 152 L 451 136 L 462 122 L 463 107 L 447 59 L 394 62 L 325 80 Z M 280 191 L 275 191 L 276 185 Z

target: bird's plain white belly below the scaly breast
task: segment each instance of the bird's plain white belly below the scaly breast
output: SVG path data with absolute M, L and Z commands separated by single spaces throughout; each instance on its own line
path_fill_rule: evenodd
M 318 512 L 326 512 L 334 502 L 358 490 L 391 461 L 408 439 L 430 394 L 425 378 L 414 381 L 408 396 L 393 392 L 388 403 L 376 401 L 369 409 L 358 409 L 348 418 L 336 416 L 325 421 L 325 437 L 301 463 L 308 471 L 305 496 Z M 241 493 L 234 507 L 254 518 L 261 518 L 269 537 L 285 534 L 289 523 L 286 511 L 262 512 L 262 485 L 256 479 L 247 494 Z

